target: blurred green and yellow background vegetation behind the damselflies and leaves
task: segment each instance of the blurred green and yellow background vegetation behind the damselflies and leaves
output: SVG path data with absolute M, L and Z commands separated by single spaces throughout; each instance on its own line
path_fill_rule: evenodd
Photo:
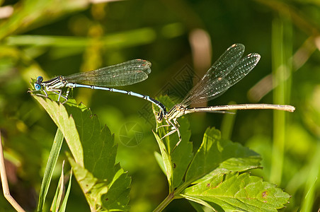
M 34 211 L 57 127 L 29 93 L 30 78 L 89 71 L 130 59 L 152 62 L 147 81 L 125 90 L 179 100 L 230 45 L 257 52 L 255 69 L 209 105 L 290 104 L 267 110 L 191 114 L 195 148 L 208 126 L 260 153 L 253 172 L 292 195 L 282 211 L 320 206 L 320 1 L 0 1 L 0 129 L 11 194 Z M 131 211 L 152 211 L 166 197 L 166 177 L 154 159 L 152 105 L 135 97 L 79 88 L 73 93 L 107 125 L 118 162 L 132 177 Z M 203 106 L 203 105 L 202 105 Z M 142 132 L 137 142 L 123 128 Z M 127 128 L 128 129 L 128 128 Z M 132 131 L 127 135 L 134 136 Z M 63 151 L 68 151 L 64 146 Z M 64 154 L 52 182 L 52 199 Z M 48 206 L 50 207 L 50 201 Z M 74 180 L 67 211 L 88 211 Z M 13 211 L 1 195 L 0 211 Z M 166 211 L 194 211 L 185 200 Z

